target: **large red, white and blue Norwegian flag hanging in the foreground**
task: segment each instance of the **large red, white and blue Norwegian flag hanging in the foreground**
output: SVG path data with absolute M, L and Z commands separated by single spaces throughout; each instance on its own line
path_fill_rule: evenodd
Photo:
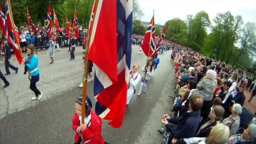
M 120 128 L 131 66 L 132 0 L 99 0 L 94 15 L 88 59 L 95 66 L 95 111 Z

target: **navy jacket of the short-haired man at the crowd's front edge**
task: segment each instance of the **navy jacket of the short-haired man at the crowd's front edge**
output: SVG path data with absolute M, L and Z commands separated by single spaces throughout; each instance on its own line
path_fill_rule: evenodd
M 173 138 L 191 138 L 195 136 L 201 119 L 202 117 L 200 116 L 200 110 L 195 112 L 186 112 L 181 116 L 181 119 L 179 119 L 178 122 L 177 119 L 172 117 L 170 123 L 165 125 L 165 127 L 168 130 L 171 123 L 177 123 Z

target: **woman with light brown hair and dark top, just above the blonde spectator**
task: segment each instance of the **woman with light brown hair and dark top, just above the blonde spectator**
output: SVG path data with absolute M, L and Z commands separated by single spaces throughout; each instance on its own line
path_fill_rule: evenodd
M 212 127 L 221 123 L 224 112 L 220 105 L 213 107 L 208 118 L 199 124 L 196 137 L 208 137 Z

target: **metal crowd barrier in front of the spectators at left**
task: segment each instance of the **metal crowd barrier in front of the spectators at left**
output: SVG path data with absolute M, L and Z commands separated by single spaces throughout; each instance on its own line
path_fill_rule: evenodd
M 77 45 L 82 45 L 85 37 L 78 37 Z M 69 45 L 69 38 L 68 37 L 56 37 L 56 41 L 59 43 L 59 47 L 67 47 Z M 21 48 L 24 49 L 27 45 L 31 44 L 31 40 L 27 40 L 26 42 L 21 42 Z M 35 37 L 35 48 L 47 48 L 49 46 L 49 38 L 48 37 Z

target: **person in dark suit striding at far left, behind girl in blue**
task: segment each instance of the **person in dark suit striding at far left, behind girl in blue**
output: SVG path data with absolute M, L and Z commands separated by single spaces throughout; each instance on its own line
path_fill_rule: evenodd
M 7 39 L 4 39 L 3 43 L 4 43 L 4 49 L 5 49 L 5 71 L 6 71 L 5 75 L 10 75 L 11 74 L 11 72 L 9 70 L 9 67 L 15 71 L 15 74 L 17 74 L 19 68 L 18 67 L 14 67 L 12 64 L 10 64 L 10 60 L 11 60 L 11 47 L 8 44 Z

